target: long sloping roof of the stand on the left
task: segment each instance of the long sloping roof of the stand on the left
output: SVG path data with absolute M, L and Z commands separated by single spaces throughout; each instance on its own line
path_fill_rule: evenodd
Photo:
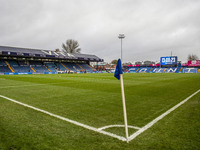
M 19 57 L 40 57 L 40 58 L 55 58 L 55 59 L 68 59 L 68 60 L 86 60 L 102 62 L 96 55 L 80 54 L 80 53 L 67 53 L 67 52 L 55 52 L 52 50 L 43 49 L 30 49 L 19 48 L 10 46 L 0 46 L 0 55 L 3 56 L 19 56 Z

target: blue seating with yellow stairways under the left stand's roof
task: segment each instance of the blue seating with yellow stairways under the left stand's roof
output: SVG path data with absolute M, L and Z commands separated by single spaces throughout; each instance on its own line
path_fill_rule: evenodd
M 2 60 L 0 59 L 0 73 L 5 72 L 32 72 L 32 73 L 45 73 L 45 72 L 93 72 L 92 67 L 88 64 L 76 64 L 68 62 L 42 62 L 42 61 L 17 61 L 17 60 Z

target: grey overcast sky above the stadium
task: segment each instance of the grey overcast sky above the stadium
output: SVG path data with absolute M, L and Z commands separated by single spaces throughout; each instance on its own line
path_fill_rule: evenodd
M 0 45 L 55 50 L 67 39 L 110 62 L 200 58 L 200 0 L 0 0 Z

